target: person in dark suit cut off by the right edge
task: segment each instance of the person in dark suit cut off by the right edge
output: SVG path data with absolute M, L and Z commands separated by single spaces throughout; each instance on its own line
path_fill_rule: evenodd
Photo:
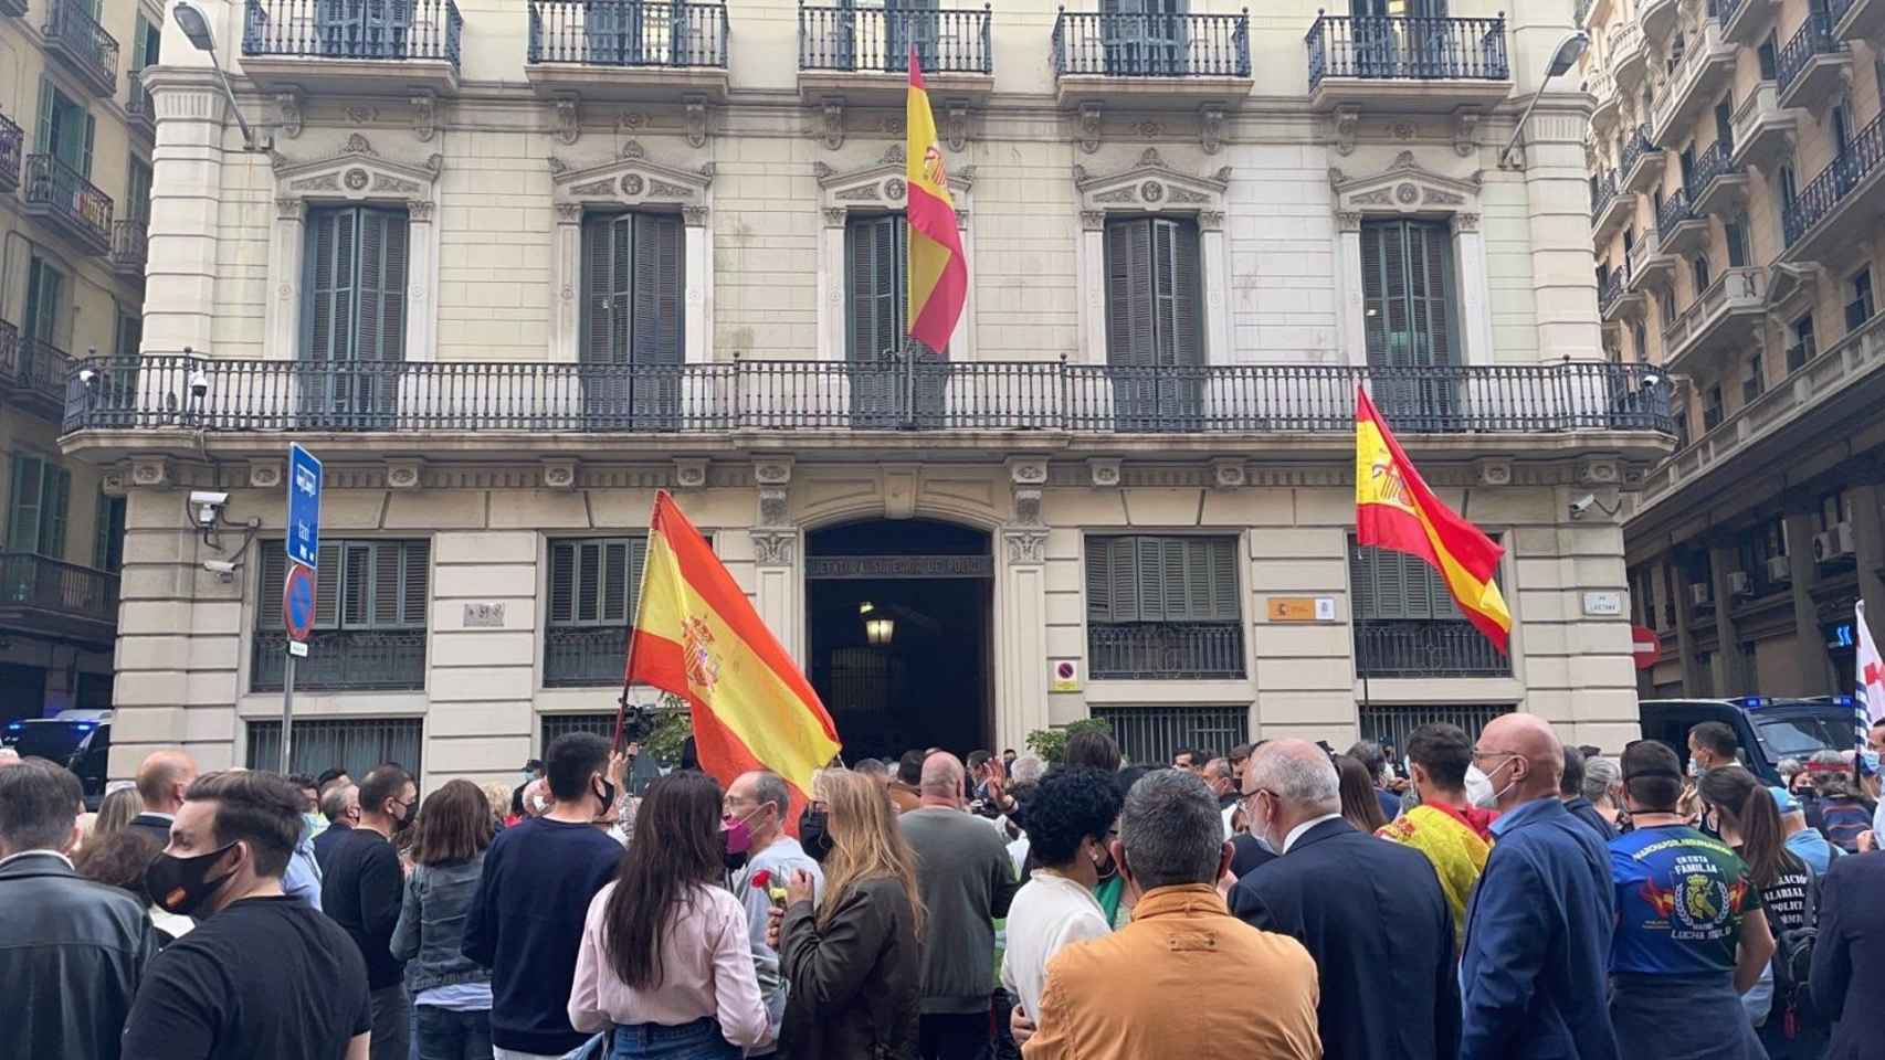
M 1828 1060 L 1877 1056 L 1885 1041 L 1885 853 L 1832 859 L 1819 891 L 1813 1005 L 1830 1015 Z

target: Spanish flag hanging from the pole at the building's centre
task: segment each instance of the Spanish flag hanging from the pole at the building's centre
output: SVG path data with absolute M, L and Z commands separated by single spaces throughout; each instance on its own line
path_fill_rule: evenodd
M 956 230 L 956 200 L 948 194 L 948 171 L 942 168 L 942 147 L 937 143 L 937 119 L 929 111 L 929 92 L 924 88 L 924 70 L 910 45 L 910 98 L 903 126 L 909 145 L 907 166 L 910 245 L 910 337 L 935 352 L 948 348 L 961 305 L 969 297 L 969 260 L 961 254 L 961 233 Z

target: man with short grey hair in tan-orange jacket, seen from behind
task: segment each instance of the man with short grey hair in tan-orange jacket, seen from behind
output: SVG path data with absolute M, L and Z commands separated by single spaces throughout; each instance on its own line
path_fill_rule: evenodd
M 1110 847 L 1140 892 L 1133 923 L 1048 962 L 1027 1060 L 1167 1056 L 1182 1041 L 1208 1041 L 1223 1056 L 1323 1054 L 1316 962 L 1295 940 L 1237 923 L 1218 894 L 1231 849 L 1201 778 L 1140 778 Z M 1252 983 L 1261 983 L 1259 1004 Z

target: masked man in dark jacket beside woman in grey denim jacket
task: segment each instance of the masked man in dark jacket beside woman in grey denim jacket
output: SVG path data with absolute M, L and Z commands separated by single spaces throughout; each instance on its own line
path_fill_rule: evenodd
M 373 994 L 373 1060 L 405 1060 L 411 1024 L 405 962 L 392 956 L 405 874 L 392 834 L 413 819 L 418 787 L 400 766 L 379 766 L 360 781 L 360 825 L 328 847 L 320 909 L 360 947 Z

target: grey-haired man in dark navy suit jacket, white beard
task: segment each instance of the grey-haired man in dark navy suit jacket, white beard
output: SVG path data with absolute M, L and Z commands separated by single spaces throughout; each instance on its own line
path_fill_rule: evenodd
M 1327 1054 L 1453 1056 L 1453 913 L 1433 862 L 1344 821 L 1335 763 L 1304 740 L 1272 740 L 1250 755 L 1244 813 L 1250 834 L 1282 857 L 1237 883 L 1231 909 L 1316 958 Z

